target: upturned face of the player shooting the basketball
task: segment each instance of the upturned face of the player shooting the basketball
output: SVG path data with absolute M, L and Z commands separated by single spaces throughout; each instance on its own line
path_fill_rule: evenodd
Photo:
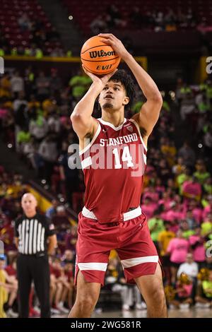
M 106 109 L 121 109 L 128 104 L 129 97 L 126 96 L 124 85 L 120 82 L 109 81 L 100 93 L 100 107 Z

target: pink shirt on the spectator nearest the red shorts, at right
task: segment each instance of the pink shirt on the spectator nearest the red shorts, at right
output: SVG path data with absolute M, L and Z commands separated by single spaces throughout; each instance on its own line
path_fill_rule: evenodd
M 170 253 L 170 261 L 173 263 L 184 263 L 187 258 L 187 253 L 189 251 L 189 242 L 187 239 L 171 239 L 167 252 Z

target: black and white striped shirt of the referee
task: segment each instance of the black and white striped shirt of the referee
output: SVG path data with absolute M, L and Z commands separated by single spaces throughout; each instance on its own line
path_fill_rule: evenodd
M 15 221 L 15 237 L 18 237 L 20 254 L 47 252 L 47 237 L 54 234 L 54 225 L 45 215 L 36 213 L 33 218 L 22 215 Z

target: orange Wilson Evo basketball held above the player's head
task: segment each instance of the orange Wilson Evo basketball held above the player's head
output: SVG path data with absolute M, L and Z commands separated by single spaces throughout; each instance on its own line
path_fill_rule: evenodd
M 121 58 L 110 45 L 102 42 L 102 37 L 88 39 L 81 49 L 81 61 L 85 69 L 101 76 L 111 73 L 119 66 Z

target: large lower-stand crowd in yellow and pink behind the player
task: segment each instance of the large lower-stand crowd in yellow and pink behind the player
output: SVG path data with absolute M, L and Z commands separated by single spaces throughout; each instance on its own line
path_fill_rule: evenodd
M 57 195 L 63 196 L 64 203 L 76 212 L 83 207 L 83 173 L 71 170 L 68 165 L 69 158 L 75 158 L 68 153 L 68 147 L 78 142 L 69 117 L 89 85 L 90 79 L 81 73 L 64 82 L 56 69 L 36 73 L 30 67 L 23 75 L 18 71 L 6 73 L 0 81 L 1 140 L 17 158 L 35 170 L 37 179 L 45 180 L 48 190 L 55 196 L 52 208 L 47 211 L 56 227 L 59 243 L 55 256 L 50 259 L 54 312 L 69 310 L 74 298 L 77 230 L 70 225 Z M 137 102 L 126 117 L 139 112 L 145 102 L 141 92 L 136 90 Z M 141 208 L 163 262 L 170 306 L 190 306 L 195 302 L 197 306 L 211 305 L 211 102 L 211 81 L 192 86 L 178 79 L 172 98 L 168 93 L 164 95 L 158 124 L 148 140 Z M 173 117 L 173 109 L 179 115 L 180 126 L 187 131 L 184 139 L 183 131 L 176 131 L 179 124 Z M 93 115 L 100 117 L 98 107 Z M 15 268 L 10 252 L 16 251 L 13 220 L 21 213 L 20 197 L 25 192 L 22 182 L 21 174 L 8 174 L 1 167 L 0 239 L 4 242 L 8 265 L 12 266 L 9 271 Z M 5 263 L 5 258 L 1 259 L 0 271 L 5 265 L 2 261 Z M 11 273 L 15 275 L 14 271 Z M 15 278 L 8 278 L 8 271 L 3 274 L 2 277 L 0 273 L 1 280 L 8 285 L 8 314 L 13 314 L 10 309 L 14 309 L 16 302 L 17 284 Z M 146 305 L 136 288 L 126 285 L 123 277 L 119 259 L 113 254 L 102 292 L 120 293 L 124 310 L 133 305 L 144 309 Z M 31 315 L 35 315 L 33 290 L 31 297 Z

